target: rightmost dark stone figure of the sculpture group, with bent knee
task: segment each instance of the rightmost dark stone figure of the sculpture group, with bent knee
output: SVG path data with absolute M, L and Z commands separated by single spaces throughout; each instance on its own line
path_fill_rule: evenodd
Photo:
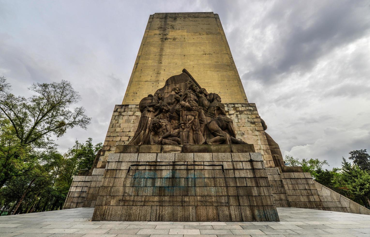
M 226 116 L 225 106 L 221 103 L 221 97 L 215 93 L 208 94 L 209 102 L 207 113 L 208 134 L 207 144 L 246 144 L 242 140 L 236 139 L 236 134 L 231 118 Z

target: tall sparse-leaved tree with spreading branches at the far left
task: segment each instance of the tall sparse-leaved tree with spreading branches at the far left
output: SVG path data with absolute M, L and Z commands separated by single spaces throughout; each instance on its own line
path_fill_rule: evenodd
M 91 120 L 85 115 L 83 107 L 70 109 L 80 100 L 80 95 L 67 81 L 34 83 L 28 89 L 36 95 L 30 98 L 15 96 L 10 93 L 10 89 L 6 78 L 0 77 L 0 118 L 6 118 L 12 126 L 7 126 L 0 134 L 8 151 L 5 161 L 0 162 L 0 188 L 14 175 L 28 171 L 22 167 L 20 172 L 13 172 L 8 160 L 22 163 L 23 160 L 33 158 L 34 152 L 55 145 L 52 135 L 61 137 L 67 129 L 75 126 L 86 129 Z

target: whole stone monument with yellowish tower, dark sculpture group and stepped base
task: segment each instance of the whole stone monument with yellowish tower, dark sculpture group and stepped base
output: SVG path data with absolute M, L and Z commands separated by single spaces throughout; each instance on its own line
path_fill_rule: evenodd
M 64 209 L 92 220 L 278 221 L 276 207 L 370 214 L 284 165 L 214 13 L 149 17 L 121 105 Z

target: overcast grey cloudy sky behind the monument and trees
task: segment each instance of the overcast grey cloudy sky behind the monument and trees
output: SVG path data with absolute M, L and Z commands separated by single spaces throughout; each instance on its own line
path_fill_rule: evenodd
M 249 102 L 284 155 L 331 167 L 370 150 L 369 1 L 0 0 L 0 75 L 16 95 L 65 79 L 92 123 L 57 140 L 104 142 L 150 14 L 219 14 Z

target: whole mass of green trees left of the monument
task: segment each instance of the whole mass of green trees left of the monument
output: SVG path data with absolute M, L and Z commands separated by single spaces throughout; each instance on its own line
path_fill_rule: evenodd
M 51 139 L 86 128 L 90 118 L 67 81 L 33 84 L 30 98 L 10 93 L 0 76 L 0 216 L 61 209 L 74 175 L 90 169 L 101 143 L 76 141 L 63 156 Z M 8 212 L 9 211 L 9 212 Z

